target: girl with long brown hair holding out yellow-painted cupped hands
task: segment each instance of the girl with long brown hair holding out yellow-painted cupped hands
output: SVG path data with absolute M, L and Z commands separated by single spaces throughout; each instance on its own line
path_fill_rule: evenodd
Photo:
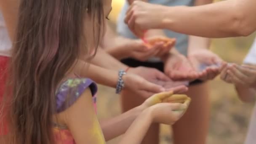
M 165 92 L 99 123 L 93 108 L 96 84 L 75 72 L 85 68 L 78 59 L 96 53 L 110 11 L 111 0 L 21 0 L 6 93 L 10 101 L 4 102 L 9 109 L 5 144 L 104 144 L 125 131 L 120 143 L 139 144 L 151 123 L 173 124 L 182 116 L 190 100 Z

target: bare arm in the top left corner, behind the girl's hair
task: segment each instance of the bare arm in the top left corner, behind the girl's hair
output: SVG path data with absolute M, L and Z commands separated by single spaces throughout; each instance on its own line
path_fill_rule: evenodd
M 18 21 L 19 3 L 20 0 L 0 0 L 0 10 L 12 41 L 15 37 L 15 29 Z

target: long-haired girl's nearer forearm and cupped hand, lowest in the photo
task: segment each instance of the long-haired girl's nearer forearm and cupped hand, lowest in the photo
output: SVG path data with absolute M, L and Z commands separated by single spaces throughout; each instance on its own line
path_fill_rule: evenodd
M 169 96 L 167 99 L 171 100 L 171 98 L 172 96 Z M 159 102 L 145 109 L 141 115 L 136 118 L 123 135 L 123 139 L 119 144 L 141 144 L 142 139 L 152 123 L 173 125 L 184 114 L 189 105 L 190 99 L 187 99 L 184 104 Z

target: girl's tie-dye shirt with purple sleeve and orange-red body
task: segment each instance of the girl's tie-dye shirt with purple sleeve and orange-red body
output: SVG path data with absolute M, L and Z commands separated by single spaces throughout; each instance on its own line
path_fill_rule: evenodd
M 96 83 L 88 78 L 72 78 L 62 83 L 56 92 L 57 112 L 63 112 L 74 104 L 86 88 L 90 88 L 96 108 Z M 55 124 L 53 133 L 56 141 L 55 144 L 75 144 L 74 138 L 67 127 Z

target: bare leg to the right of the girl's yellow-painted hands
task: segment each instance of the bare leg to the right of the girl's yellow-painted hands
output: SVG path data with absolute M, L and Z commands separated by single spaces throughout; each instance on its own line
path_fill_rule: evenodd
M 209 125 L 208 83 L 189 87 L 192 101 L 185 115 L 173 125 L 175 144 L 205 144 Z

